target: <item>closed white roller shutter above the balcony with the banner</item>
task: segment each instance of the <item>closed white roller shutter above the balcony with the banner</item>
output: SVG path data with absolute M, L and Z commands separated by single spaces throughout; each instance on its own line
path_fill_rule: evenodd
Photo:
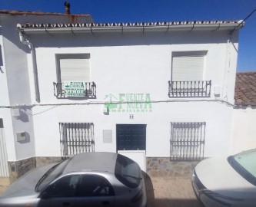
M 65 81 L 90 82 L 90 59 L 64 58 L 59 60 L 62 83 Z

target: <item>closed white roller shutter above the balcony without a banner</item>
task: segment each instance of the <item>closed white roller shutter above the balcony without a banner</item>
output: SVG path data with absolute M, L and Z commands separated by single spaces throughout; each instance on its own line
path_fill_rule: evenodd
M 203 81 L 204 56 L 172 58 L 172 81 Z

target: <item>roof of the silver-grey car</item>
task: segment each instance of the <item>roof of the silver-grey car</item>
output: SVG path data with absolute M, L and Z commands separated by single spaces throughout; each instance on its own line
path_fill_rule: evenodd
M 81 153 L 73 156 L 63 174 L 81 171 L 115 172 L 117 153 Z

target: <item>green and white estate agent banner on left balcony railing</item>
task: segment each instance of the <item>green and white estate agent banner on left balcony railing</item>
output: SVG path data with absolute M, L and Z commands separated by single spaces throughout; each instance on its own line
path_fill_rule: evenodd
M 85 97 L 85 82 L 65 81 L 65 97 Z

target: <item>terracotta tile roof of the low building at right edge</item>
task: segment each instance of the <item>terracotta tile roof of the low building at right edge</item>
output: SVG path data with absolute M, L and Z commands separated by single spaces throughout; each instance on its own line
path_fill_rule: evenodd
M 234 103 L 236 105 L 256 105 L 256 72 L 237 73 Z

